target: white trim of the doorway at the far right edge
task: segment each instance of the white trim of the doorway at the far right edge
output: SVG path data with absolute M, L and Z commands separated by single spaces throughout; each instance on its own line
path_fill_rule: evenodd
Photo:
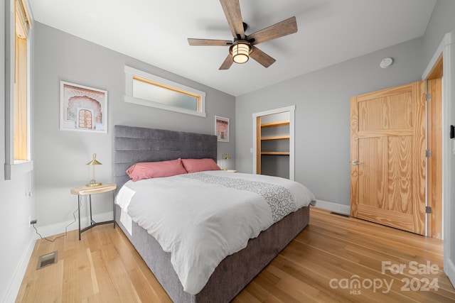
M 441 43 L 439 44 L 432 60 L 429 61 L 427 69 L 422 75 L 422 79 L 427 79 L 437 60 L 442 55 L 443 60 L 443 77 L 442 77 L 442 209 L 443 209 L 443 239 L 444 239 L 444 272 L 455 285 L 455 253 L 451 252 L 451 248 L 455 247 L 454 240 L 451 237 L 453 224 L 451 214 L 454 212 L 455 193 L 452 192 L 450 183 L 455 180 L 455 161 L 453 160 L 454 151 L 451 150 L 455 142 L 449 139 L 449 125 L 454 123 L 455 106 L 451 106 L 451 100 L 454 99 L 455 84 L 452 79 L 455 75 L 455 48 L 452 45 L 454 33 L 446 33 Z

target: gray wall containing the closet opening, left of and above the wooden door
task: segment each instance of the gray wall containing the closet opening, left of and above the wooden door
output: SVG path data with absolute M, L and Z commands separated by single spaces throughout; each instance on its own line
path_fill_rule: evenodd
M 379 67 L 384 57 L 395 63 Z M 422 38 L 236 98 L 236 164 L 252 172 L 252 114 L 295 104 L 295 180 L 316 199 L 350 204 L 350 97 L 422 77 Z

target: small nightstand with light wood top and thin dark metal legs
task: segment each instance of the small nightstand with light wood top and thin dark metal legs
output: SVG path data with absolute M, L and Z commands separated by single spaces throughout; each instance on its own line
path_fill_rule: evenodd
M 108 224 L 113 223 L 115 228 L 115 189 L 117 189 L 117 184 L 114 183 L 107 183 L 102 184 L 97 187 L 88 187 L 88 186 L 81 186 L 81 187 L 73 187 L 71 189 L 71 194 L 77 194 L 77 216 L 79 216 L 79 241 L 80 241 L 80 234 L 84 231 L 88 231 L 90 228 L 95 227 L 101 224 Z M 101 194 L 102 192 L 112 192 L 112 208 L 114 209 L 114 218 L 109 221 L 103 222 L 95 222 L 92 219 L 92 194 Z M 80 229 L 80 202 L 82 200 L 82 196 L 86 196 L 88 194 L 89 201 L 90 201 L 90 226 Z

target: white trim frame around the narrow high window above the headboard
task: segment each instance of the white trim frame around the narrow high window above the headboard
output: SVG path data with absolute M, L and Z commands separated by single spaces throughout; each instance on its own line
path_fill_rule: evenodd
M 176 82 L 173 82 L 168 79 L 164 79 L 161 77 L 158 77 L 156 75 L 151 75 L 148 72 L 144 72 L 141 70 L 137 70 L 133 67 L 129 67 L 125 65 L 125 96 L 124 96 L 124 101 L 132 104 L 138 104 L 138 105 L 144 105 L 144 106 L 151 106 L 155 107 L 157 109 L 165 109 L 167 111 L 175 111 L 178 113 L 182 114 L 190 114 L 193 116 L 200 116 L 200 117 L 206 117 L 207 114 L 205 113 L 205 92 L 202 92 L 198 89 L 194 89 L 192 87 L 187 87 L 186 85 L 179 84 Z M 150 84 L 159 84 L 160 87 L 164 87 L 167 89 L 171 89 L 175 92 L 181 92 L 183 94 L 188 94 L 193 97 L 198 97 L 200 96 L 200 101 L 198 101 L 198 111 L 192 111 L 191 109 L 183 109 L 178 106 L 171 106 L 167 104 L 162 104 L 160 102 L 156 101 L 149 101 L 149 100 L 144 100 L 144 99 L 139 99 L 133 97 L 133 79 L 140 78 L 141 81 L 148 82 Z

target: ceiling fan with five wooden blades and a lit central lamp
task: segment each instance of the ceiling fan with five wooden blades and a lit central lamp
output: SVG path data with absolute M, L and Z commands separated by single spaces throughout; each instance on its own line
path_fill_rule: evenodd
M 255 45 L 280 38 L 285 35 L 297 32 L 296 17 L 288 18 L 273 26 L 263 28 L 251 35 L 245 35 L 247 23 L 242 20 L 240 13 L 239 0 L 220 0 L 223 11 L 228 19 L 228 24 L 234 40 L 212 40 L 212 39 L 193 39 L 188 38 L 190 45 L 206 45 L 206 46 L 230 46 L 228 57 L 226 57 L 220 70 L 228 70 L 232 62 L 245 63 L 250 57 L 255 59 L 264 67 L 269 67 L 276 60 L 270 57 L 262 50 L 259 50 Z

